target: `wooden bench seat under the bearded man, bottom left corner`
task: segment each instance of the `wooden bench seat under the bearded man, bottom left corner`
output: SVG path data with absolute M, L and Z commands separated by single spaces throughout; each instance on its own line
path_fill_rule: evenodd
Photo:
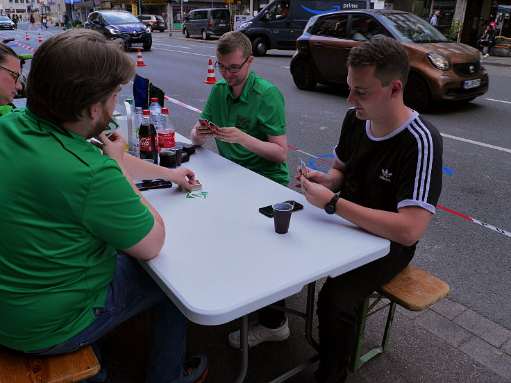
M 37 356 L 0 346 L 1 383 L 74 383 L 99 372 L 91 346 L 60 355 Z

